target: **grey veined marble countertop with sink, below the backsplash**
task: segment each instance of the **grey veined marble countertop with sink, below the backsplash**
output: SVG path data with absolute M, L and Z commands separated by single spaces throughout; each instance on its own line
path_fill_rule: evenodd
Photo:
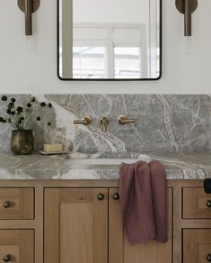
M 168 179 L 211 177 L 211 152 L 75 152 L 65 156 L 0 153 L 0 179 L 119 179 L 121 161 L 137 159 L 161 161 Z

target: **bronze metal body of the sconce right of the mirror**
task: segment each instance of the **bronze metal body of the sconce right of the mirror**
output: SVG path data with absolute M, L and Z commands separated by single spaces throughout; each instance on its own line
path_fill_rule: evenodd
M 176 7 L 184 14 L 184 35 L 191 36 L 191 14 L 198 7 L 198 0 L 176 0 Z

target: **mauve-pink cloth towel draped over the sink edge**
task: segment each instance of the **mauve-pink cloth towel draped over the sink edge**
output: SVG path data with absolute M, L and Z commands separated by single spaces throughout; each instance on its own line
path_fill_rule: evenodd
M 159 162 L 122 164 L 119 197 L 129 243 L 167 240 L 166 179 Z

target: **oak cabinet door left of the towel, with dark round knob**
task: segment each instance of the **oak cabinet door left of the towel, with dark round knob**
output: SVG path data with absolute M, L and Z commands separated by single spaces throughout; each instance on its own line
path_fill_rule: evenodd
M 45 263 L 108 262 L 108 188 L 45 189 Z

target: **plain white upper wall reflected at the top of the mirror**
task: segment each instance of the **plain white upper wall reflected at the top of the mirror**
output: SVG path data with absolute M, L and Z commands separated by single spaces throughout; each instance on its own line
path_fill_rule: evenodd
M 73 10 L 74 23 L 148 23 L 149 20 L 149 0 L 73 0 Z

